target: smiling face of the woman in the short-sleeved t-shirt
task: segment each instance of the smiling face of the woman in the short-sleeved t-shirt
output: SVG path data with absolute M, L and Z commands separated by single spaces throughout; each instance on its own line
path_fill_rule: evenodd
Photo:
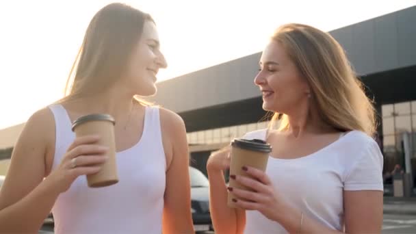
M 310 88 L 300 76 L 281 43 L 272 40 L 265 47 L 255 78 L 263 94 L 263 109 L 287 114 L 308 99 Z

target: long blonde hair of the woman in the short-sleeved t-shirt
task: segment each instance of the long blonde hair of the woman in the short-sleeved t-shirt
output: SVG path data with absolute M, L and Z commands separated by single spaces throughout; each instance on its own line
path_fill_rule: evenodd
M 302 77 L 307 79 L 320 117 L 327 125 L 341 131 L 374 134 L 373 103 L 343 48 L 330 34 L 309 25 L 291 23 L 279 27 L 272 40 L 283 45 Z M 270 126 L 278 119 L 281 120 L 278 130 L 287 130 L 289 121 L 285 114 L 275 113 Z

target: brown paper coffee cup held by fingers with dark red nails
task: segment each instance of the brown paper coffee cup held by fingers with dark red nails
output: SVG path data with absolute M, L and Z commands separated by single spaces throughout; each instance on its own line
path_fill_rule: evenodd
M 272 152 L 272 147 L 263 140 L 234 139 L 233 142 L 231 142 L 230 174 L 235 174 L 237 177 L 250 177 L 250 175 L 242 169 L 243 166 L 251 166 L 264 172 L 266 166 L 268 165 L 270 152 Z M 249 190 L 248 187 L 237 183 L 237 181 L 233 179 L 230 179 L 229 187 Z M 233 198 L 237 200 L 244 200 L 242 198 L 235 197 L 234 194 L 229 192 L 227 201 L 229 207 L 235 208 L 235 203 L 232 200 Z

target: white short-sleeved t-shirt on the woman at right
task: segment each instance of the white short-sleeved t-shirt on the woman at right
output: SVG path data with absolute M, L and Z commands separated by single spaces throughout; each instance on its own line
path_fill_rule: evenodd
M 246 133 L 265 140 L 266 130 Z M 266 174 L 276 192 L 304 216 L 343 231 L 343 191 L 383 190 L 383 159 L 378 144 L 361 131 L 350 131 L 320 151 L 297 159 L 269 157 Z M 280 211 L 285 212 L 285 211 Z M 259 211 L 246 211 L 246 234 L 287 233 Z

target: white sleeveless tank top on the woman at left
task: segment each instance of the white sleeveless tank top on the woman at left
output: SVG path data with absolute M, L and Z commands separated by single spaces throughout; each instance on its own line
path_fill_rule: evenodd
M 55 169 L 75 133 L 62 105 L 49 108 L 56 126 Z M 142 138 L 116 157 L 118 183 L 90 188 L 81 176 L 58 196 L 52 209 L 55 233 L 161 233 L 166 157 L 157 107 L 146 107 Z

